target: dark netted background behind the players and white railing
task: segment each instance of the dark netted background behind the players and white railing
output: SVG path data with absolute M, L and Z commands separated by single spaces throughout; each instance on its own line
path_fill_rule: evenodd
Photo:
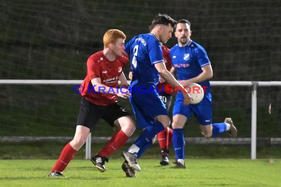
M 279 0 L 1 0 L 0 9 L 0 79 L 82 80 L 105 31 L 120 29 L 128 41 L 167 13 L 191 22 L 191 39 L 211 60 L 211 81 L 281 81 Z M 175 44 L 173 36 L 166 45 Z M 72 87 L 0 85 L 0 135 L 72 136 L 80 102 Z M 281 137 L 280 88 L 258 87 L 258 137 Z M 213 87 L 213 122 L 232 117 L 239 136 L 250 137 L 251 90 Z M 194 117 L 188 124 L 186 136 L 200 137 Z M 96 129 L 109 135 L 103 121 Z

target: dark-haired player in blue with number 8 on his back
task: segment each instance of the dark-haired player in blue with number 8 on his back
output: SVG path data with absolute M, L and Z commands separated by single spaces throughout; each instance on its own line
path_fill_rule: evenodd
M 140 171 L 137 158 L 152 145 L 152 138 L 170 125 L 165 104 L 156 91 L 159 76 L 161 75 L 167 83 L 184 90 L 166 69 L 162 47 L 159 43 L 165 44 L 172 37 L 175 24 L 176 21 L 170 16 L 159 14 L 149 26 L 150 33 L 137 35 L 125 45 L 125 51 L 130 55 L 133 72 L 133 79 L 129 87 L 130 102 L 138 128 L 144 130 L 134 144 L 122 154 L 126 159 L 122 164 L 124 171 L 126 164 Z M 185 92 L 182 96 L 182 104 L 188 105 L 190 95 Z

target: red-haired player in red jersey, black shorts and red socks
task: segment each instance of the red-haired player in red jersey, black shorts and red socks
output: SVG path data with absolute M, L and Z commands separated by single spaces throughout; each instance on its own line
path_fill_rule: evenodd
M 125 39 L 126 35 L 122 31 L 108 30 L 104 35 L 104 50 L 89 57 L 87 76 L 80 87 L 82 100 L 74 138 L 64 147 L 49 176 L 65 177 L 62 172 L 101 118 L 109 125 L 120 128 L 91 159 L 101 172 L 105 172 L 107 156 L 123 146 L 135 131 L 132 118 L 117 102 L 117 96 L 128 98 L 130 95 L 127 88 L 117 88 L 118 80 L 121 86 L 129 86 L 122 71 L 128 62 L 128 56 L 124 53 Z

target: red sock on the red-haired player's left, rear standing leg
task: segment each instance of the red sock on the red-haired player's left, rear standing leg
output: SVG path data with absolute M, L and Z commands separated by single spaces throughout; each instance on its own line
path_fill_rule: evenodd
M 70 143 L 68 143 L 51 171 L 64 171 L 76 152 L 77 151 L 70 146 Z

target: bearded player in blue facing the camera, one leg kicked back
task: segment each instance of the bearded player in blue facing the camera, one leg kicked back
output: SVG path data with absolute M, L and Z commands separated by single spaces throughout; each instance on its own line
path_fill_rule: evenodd
M 231 118 L 226 118 L 224 123 L 212 123 L 211 62 L 206 50 L 190 39 L 190 22 L 184 19 L 177 21 L 175 36 L 178 43 L 171 49 L 170 56 L 173 68 L 176 69 L 178 82 L 183 86 L 197 83 L 205 87 L 204 98 L 198 104 L 182 105 L 183 95 L 178 92 L 173 109 L 173 143 L 176 153 L 174 168 L 186 168 L 184 163 L 184 136 L 183 126 L 193 112 L 200 125 L 202 134 L 207 137 L 217 136 L 224 131 L 229 132 L 232 138 L 237 137 L 237 129 Z

